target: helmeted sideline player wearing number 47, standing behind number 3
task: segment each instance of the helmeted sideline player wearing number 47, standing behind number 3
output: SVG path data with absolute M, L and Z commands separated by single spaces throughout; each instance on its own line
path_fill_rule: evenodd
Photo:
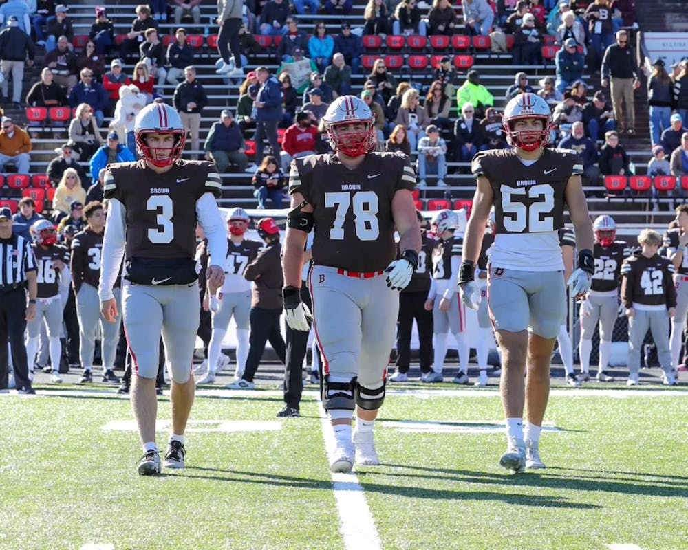
M 204 307 L 210 307 L 213 333 L 208 345 L 208 371 L 197 384 L 212 384 L 222 354 L 222 340 L 229 322 L 234 316 L 237 324 L 237 369 L 234 380 L 244 374 L 248 356 L 248 329 L 251 311 L 251 283 L 244 278 L 246 266 L 255 260 L 262 244 L 244 237 L 251 221 L 243 208 L 233 208 L 227 217 L 229 238 L 227 257 L 224 261 L 224 285 L 211 296 L 206 291 Z M 211 259 L 212 260 L 212 259 Z

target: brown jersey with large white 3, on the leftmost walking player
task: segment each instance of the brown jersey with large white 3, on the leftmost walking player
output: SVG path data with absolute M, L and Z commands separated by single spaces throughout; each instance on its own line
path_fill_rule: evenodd
M 215 164 L 175 162 L 156 174 L 144 161 L 110 164 L 103 196 L 127 210 L 125 257 L 193 259 L 196 252 L 196 201 L 206 193 L 222 196 Z

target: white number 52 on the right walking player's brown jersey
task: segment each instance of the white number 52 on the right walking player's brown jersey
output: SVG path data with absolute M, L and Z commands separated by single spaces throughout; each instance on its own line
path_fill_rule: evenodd
M 528 226 L 529 233 L 554 231 L 554 218 L 550 214 L 555 206 L 554 189 L 550 184 L 534 185 L 528 189 L 530 199 L 542 198 L 540 202 L 526 206 L 523 199 L 526 188 L 502 186 L 502 212 L 504 229 L 510 233 L 522 233 Z M 507 215 L 510 214 L 510 215 Z

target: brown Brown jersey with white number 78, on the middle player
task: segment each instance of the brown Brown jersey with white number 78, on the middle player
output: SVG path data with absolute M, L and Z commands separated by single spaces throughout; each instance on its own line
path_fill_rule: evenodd
M 314 213 L 313 263 L 355 272 L 384 270 L 396 257 L 391 202 L 416 175 L 397 153 L 368 153 L 350 170 L 334 154 L 294 159 L 289 192 Z

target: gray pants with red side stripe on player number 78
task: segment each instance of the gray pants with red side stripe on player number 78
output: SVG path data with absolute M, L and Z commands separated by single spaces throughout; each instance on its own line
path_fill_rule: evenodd
M 379 387 L 394 347 L 399 292 L 384 273 L 354 278 L 323 265 L 310 270 L 309 287 L 324 373 Z

